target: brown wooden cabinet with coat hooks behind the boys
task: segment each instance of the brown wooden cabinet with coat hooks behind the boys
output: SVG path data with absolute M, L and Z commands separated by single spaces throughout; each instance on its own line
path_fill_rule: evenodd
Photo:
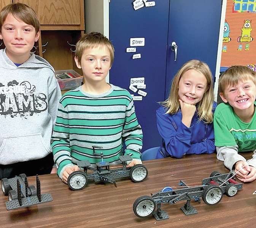
M 41 36 L 32 52 L 45 58 L 55 70 L 73 69 L 81 74 L 72 45 L 84 33 L 84 0 L 0 0 L 0 9 L 11 2 L 29 5 L 38 15 Z

